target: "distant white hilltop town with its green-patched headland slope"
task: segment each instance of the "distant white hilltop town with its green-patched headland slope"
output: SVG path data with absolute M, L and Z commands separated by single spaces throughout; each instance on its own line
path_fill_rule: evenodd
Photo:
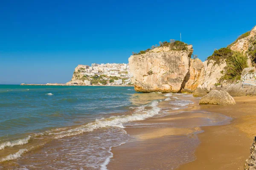
M 132 85 L 129 65 L 107 63 L 78 65 L 67 85 Z

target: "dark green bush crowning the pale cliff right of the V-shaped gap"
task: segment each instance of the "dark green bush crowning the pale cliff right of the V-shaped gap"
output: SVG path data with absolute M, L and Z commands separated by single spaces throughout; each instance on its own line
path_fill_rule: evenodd
M 209 62 L 210 59 L 214 60 L 215 63 L 220 64 L 225 59 L 228 59 L 232 56 L 233 52 L 230 48 L 220 48 L 218 50 L 214 50 L 213 54 L 207 57 Z

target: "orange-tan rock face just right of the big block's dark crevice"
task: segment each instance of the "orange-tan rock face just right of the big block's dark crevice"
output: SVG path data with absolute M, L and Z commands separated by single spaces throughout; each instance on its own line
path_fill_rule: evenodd
M 186 75 L 184 88 L 195 90 L 204 82 L 204 63 L 200 59 L 190 59 L 189 73 Z

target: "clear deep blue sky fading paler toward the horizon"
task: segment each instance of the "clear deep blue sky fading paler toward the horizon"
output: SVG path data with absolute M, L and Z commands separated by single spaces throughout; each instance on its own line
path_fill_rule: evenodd
M 68 82 L 78 64 L 128 63 L 159 41 L 204 61 L 256 25 L 256 0 L 1 0 L 0 84 Z

